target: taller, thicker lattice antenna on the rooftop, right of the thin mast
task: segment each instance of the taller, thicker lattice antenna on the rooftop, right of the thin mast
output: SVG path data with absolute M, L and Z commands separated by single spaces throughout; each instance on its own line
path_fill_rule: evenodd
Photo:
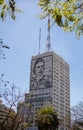
M 47 43 L 46 43 L 46 50 L 51 50 L 51 44 L 50 44 L 50 15 L 48 15 L 48 35 L 47 35 Z

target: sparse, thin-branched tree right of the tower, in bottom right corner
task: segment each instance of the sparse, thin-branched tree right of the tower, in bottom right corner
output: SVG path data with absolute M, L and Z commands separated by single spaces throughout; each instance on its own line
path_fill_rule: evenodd
M 83 101 L 80 101 L 71 109 L 72 129 L 83 130 Z

